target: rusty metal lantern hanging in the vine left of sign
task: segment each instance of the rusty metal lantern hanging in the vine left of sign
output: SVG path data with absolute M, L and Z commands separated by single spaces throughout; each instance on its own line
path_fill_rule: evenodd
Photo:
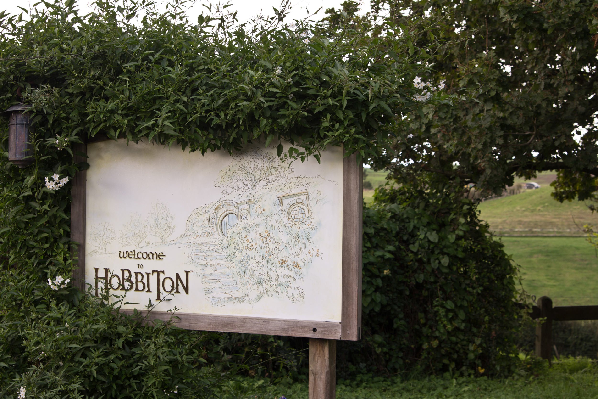
M 30 157 L 29 144 L 29 115 L 26 109 L 30 105 L 20 103 L 13 105 L 4 112 L 8 112 L 8 160 L 14 165 L 25 167 L 33 163 Z

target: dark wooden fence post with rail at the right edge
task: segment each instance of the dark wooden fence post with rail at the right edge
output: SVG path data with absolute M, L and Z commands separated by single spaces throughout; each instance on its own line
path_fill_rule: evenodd
M 598 320 L 598 306 L 556 306 L 549 297 L 538 299 L 532 319 L 545 318 L 536 326 L 536 356 L 550 360 L 553 352 L 553 321 Z

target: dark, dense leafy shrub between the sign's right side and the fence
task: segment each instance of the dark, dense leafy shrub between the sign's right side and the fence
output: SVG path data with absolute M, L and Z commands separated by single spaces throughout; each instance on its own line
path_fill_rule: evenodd
M 510 370 L 517 270 L 455 187 L 382 187 L 365 209 L 364 339 L 348 363 Z

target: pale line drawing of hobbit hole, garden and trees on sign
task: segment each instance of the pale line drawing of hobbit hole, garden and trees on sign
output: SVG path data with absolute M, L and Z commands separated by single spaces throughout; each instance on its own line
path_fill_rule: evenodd
M 145 218 L 131 214 L 126 219 L 118 244 L 124 250 L 181 248 L 212 307 L 267 299 L 302 303 L 306 273 L 325 256 L 316 246 L 319 214 L 327 202 L 321 190 L 325 183 L 338 185 L 295 174 L 292 164 L 273 150 L 233 154 L 213 183 L 197 182 L 222 188 L 221 197 L 198 204 L 182 234 L 173 236 L 176 224 L 169 206 L 176 205 L 154 201 Z M 93 255 L 107 253 L 117 238 L 114 228 L 102 223 L 91 231 Z

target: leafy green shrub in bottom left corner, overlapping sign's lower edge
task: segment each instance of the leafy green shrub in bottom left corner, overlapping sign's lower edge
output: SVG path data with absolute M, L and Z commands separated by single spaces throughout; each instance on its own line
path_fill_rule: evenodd
M 108 294 L 53 290 L 35 277 L 54 267 L 40 266 L 0 270 L 0 397 L 212 398 L 230 379 L 204 359 L 208 334 L 144 325 Z

